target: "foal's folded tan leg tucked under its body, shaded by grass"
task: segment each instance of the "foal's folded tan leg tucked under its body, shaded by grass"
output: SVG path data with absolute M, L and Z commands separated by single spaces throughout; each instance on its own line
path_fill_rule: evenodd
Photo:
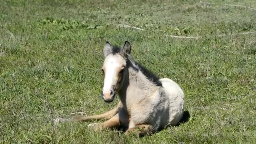
M 131 133 L 138 134 L 139 136 L 144 136 L 146 134 L 150 134 L 153 130 L 152 125 L 136 125 L 136 128 L 129 128 L 126 132 L 125 135 L 129 135 Z

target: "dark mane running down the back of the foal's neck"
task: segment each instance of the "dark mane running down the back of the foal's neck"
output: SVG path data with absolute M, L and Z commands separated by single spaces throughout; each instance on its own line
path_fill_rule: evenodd
M 139 69 L 137 69 L 136 67 L 133 67 L 133 69 L 135 69 L 136 71 L 140 70 L 148 78 L 149 81 L 151 81 L 157 86 L 162 86 L 162 83 L 160 82 L 159 77 L 157 77 L 153 72 L 143 67 L 141 64 L 139 64 L 136 61 L 132 61 L 132 62 L 139 67 Z

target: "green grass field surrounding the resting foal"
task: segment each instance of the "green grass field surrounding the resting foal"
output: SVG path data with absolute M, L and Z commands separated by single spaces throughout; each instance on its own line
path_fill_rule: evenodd
M 230 35 L 256 31 L 256 10 L 234 6 L 255 0 L 0 3 L 0 143 L 256 143 L 256 34 Z M 100 96 L 106 40 L 130 41 L 133 60 L 181 86 L 187 123 L 142 138 L 53 125 L 116 106 Z

